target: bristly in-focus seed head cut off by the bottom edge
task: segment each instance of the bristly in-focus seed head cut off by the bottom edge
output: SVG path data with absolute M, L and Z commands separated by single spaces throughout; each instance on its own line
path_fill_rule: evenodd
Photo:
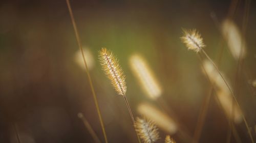
M 158 128 L 152 121 L 137 118 L 134 126 L 144 143 L 153 143 L 159 139 Z

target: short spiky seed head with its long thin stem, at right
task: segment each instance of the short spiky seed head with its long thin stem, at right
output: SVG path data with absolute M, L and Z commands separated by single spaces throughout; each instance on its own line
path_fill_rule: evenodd
M 227 83 L 227 81 L 225 80 L 225 78 L 223 77 L 222 73 L 220 72 L 219 68 L 216 66 L 216 64 L 214 63 L 214 61 L 211 60 L 211 58 L 209 57 L 209 55 L 204 51 L 203 47 L 205 47 L 205 45 L 203 44 L 203 39 L 201 38 L 200 34 L 198 34 L 198 32 L 196 30 L 183 30 L 183 36 L 181 37 L 181 40 L 183 41 L 183 43 L 185 43 L 185 45 L 187 46 L 188 49 L 193 49 L 196 52 L 202 51 L 204 53 L 204 55 L 206 56 L 206 58 L 210 61 L 210 63 L 215 67 L 215 69 L 217 70 L 217 72 L 220 74 L 222 80 L 225 82 L 228 90 L 230 91 L 231 95 L 233 96 L 234 101 L 237 103 L 239 109 L 241 110 L 241 106 L 238 103 L 238 100 L 236 98 L 236 96 L 234 95 L 233 91 L 231 90 L 229 84 Z M 247 131 L 249 133 L 250 139 L 251 141 L 254 143 L 254 140 L 252 138 L 250 129 L 249 129 L 249 125 L 247 123 L 247 120 L 245 119 L 245 116 L 242 113 L 242 117 L 245 123 L 245 126 L 247 128 Z

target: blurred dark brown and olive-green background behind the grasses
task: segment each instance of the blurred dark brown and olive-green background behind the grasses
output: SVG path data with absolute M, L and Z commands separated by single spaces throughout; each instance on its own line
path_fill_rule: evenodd
M 148 99 L 129 67 L 138 53 L 147 60 L 163 89 L 162 98 L 193 135 L 200 107 L 210 84 L 193 51 L 180 41 L 181 28 L 197 28 L 216 59 L 224 46 L 220 69 L 231 85 L 237 61 L 223 43 L 218 22 L 228 15 L 231 1 L 75 1 L 71 7 L 83 47 L 92 53 L 90 69 L 109 142 L 136 142 L 129 112 L 109 83 L 98 62 L 101 47 L 120 60 L 127 81 L 127 98 L 136 107 Z M 239 1 L 233 16 L 242 27 L 245 2 Z M 248 54 L 244 67 L 256 78 L 256 9 L 250 3 L 245 39 Z M 212 19 L 215 14 L 216 19 Z M 98 116 L 85 70 L 74 58 L 79 51 L 66 1 L 0 2 L 0 142 L 94 142 L 82 121 L 82 112 L 101 141 Z M 238 100 L 256 139 L 255 95 L 241 80 Z M 253 89 L 255 91 L 255 88 Z M 156 105 L 157 106 L 157 105 Z M 236 125 L 243 142 L 250 142 L 244 123 Z M 200 142 L 226 142 L 228 121 L 211 99 Z M 164 131 L 160 130 L 163 142 Z M 175 134 L 177 142 L 182 139 Z M 231 142 L 235 142 L 233 137 Z

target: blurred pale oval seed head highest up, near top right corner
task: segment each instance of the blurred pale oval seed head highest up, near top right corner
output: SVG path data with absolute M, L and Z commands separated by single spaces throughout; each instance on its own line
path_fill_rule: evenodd
M 225 19 L 222 22 L 221 30 L 234 59 L 238 60 L 240 55 L 241 58 L 244 58 L 246 55 L 246 43 L 238 26 L 230 19 Z

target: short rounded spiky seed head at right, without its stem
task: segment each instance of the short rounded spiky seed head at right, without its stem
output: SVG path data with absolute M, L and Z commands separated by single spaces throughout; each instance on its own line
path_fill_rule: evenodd
M 203 47 L 205 47 L 203 38 L 197 30 L 182 29 L 182 31 L 183 36 L 181 37 L 181 41 L 185 43 L 188 49 L 199 52 Z

